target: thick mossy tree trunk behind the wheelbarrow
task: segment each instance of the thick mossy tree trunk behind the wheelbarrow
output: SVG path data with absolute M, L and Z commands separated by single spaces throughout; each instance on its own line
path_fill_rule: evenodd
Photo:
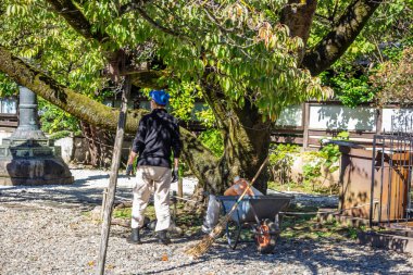
M 215 114 L 224 139 L 224 155 L 209 171 L 202 187 L 214 193 L 223 193 L 235 176 L 252 179 L 255 175 L 268 154 L 271 122 L 263 122 L 259 110 L 247 99 L 242 108 L 229 107 L 220 87 L 208 82 L 203 82 L 202 87 L 204 99 Z M 264 193 L 268 177 L 267 170 L 264 170 L 254 184 Z

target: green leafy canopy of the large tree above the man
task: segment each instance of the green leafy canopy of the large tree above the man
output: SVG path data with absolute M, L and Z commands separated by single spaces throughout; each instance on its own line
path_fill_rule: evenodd
M 208 78 L 228 103 L 242 105 L 247 95 L 275 118 L 283 107 L 322 91 L 300 67 L 303 41 L 279 23 L 285 1 L 48 2 L 3 1 L 2 45 L 86 95 L 111 88 L 101 77 L 104 58 L 120 49 L 132 57 L 129 72 L 161 60 L 158 85 L 179 102 L 188 98 L 180 91 L 193 92 Z

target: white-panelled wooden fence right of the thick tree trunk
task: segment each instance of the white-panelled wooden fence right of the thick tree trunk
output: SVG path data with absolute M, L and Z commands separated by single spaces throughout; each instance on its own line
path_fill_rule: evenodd
M 413 108 L 399 108 L 395 104 L 384 108 L 365 104 L 352 109 L 338 101 L 310 101 L 281 113 L 273 130 L 272 141 L 317 148 L 321 139 L 330 139 L 340 132 L 348 132 L 350 141 L 372 147 L 375 134 L 397 128 L 397 124 L 402 125 L 412 115 Z M 399 120 L 392 121 L 392 116 Z

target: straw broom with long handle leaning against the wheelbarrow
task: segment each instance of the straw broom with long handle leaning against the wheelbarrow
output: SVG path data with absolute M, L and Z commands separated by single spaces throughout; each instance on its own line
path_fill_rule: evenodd
M 246 193 L 248 192 L 248 190 L 254 184 L 254 182 L 256 180 L 256 178 L 261 174 L 261 172 L 264 168 L 265 163 L 267 161 L 268 161 L 268 157 L 266 157 L 266 159 L 264 160 L 264 162 L 261 164 L 260 170 L 256 172 L 256 174 L 252 178 L 251 183 L 249 183 L 247 185 L 247 188 L 243 190 L 243 192 L 241 193 L 241 196 L 239 196 L 238 200 L 234 203 L 234 205 L 229 210 L 229 212 L 224 217 L 221 218 L 221 221 L 212 229 L 212 232 L 209 235 L 204 236 L 201 239 L 201 241 L 199 241 L 197 245 L 195 245 L 195 246 L 190 247 L 188 250 L 186 250 L 185 253 L 187 253 L 188 255 L 190 255 L 190 257 L 192 257 L 192 258 L 196 259 L 196 258 L 199 258 L 202 254 L 204 254 L 210 249 L 210 247 L 212 246 L 212 243 L 214 242 L 214 240 L 222 234 L 222 232 L 226 227 L 226 224 L 228 223 L 231 214 L 237 210 L 238 204 L 241 202 L 241 200 L 243 199 L 243 197 L 246 196 Z

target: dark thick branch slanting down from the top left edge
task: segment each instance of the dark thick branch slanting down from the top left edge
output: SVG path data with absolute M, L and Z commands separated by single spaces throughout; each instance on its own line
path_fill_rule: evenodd
M 110 39 L 108 34 L 92 33 L 90 22 L 85 17 L 82 11 L 71 0 L 47 0 L 53 8 L 54 12 L 63 16 L 67 24 L 78 34 L 87 39 L 95 39 L 102 42 Z

